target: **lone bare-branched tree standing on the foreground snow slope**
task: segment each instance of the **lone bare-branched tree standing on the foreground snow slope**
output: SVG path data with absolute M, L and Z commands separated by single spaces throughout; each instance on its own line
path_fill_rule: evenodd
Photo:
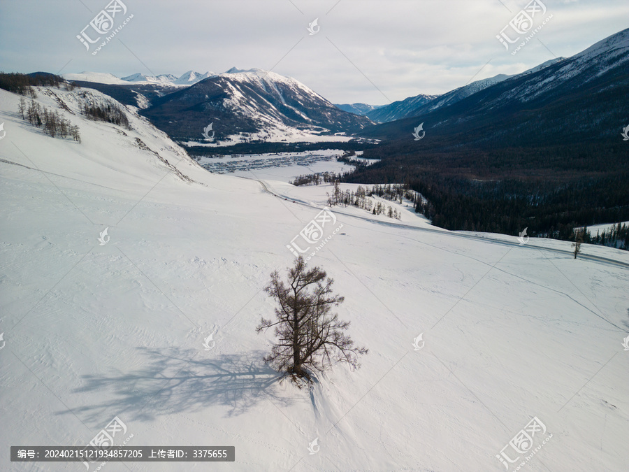
M 277 301 L 277 320 L 262 317 L 256 331 L 275 327 L 278 339 L 264 362 L 293 380 L 305 378 L 312 382 L 308 368 L 323 372 L 335 362 L 358 368 L 358 355 L 368 352 L 354 347 L 354 341 L 343 333 L 349 322 L 331 313 L 333 306 L 345 299 L 332 293 L 334 280 L 326 276 L 319 267 L 307 270 L 303 257 L 298 257 L 295 266 L 288 268 L 287 284 L 274 271 L 265 287 Z

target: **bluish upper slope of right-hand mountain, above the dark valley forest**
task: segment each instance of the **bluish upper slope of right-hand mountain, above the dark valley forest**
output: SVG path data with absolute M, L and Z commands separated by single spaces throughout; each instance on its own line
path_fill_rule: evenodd
M 405 142 L 424 122 L 426 136 L 440 137 L 440 145 L 448 141 L 455 146 L 525 147 L 613 136 L 629 115 L 629 29 L 567 59 L 544 62 L 489 86 L 466 87 L 480 90 L 448 92 L 414 110 L 412 117 L 379 124 L 366 133 Z

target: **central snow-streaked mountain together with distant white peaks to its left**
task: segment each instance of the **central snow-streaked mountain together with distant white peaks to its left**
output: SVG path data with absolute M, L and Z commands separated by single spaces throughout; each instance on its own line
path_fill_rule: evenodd
M 233 67 L 220 74 L 173 76 L 66 74 L 125 105 L 140 108 L 159 129 L 181 142 L 234 144 L 243 141 L 347 141 L 373 124 L 340 110 L 294 78 L 262 69 Z M 189 86 L 182 87 L 183 83 Z M 215 141 L 203 136 L 212 124 Z

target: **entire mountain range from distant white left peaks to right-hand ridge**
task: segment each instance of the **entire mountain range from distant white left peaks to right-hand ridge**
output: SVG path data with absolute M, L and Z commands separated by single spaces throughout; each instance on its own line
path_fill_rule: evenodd
M 141 108 L 175 140 L 192 144 L 347 141 L 359 136 L 405 142 L 409 130 L 421 122 L 428 136 L 442 135 L 455 146 L 496 139 L 529 145 L 559 142 L 566 135 L 578 141 L 611 134 L 624 116 L 627 31 L 514 76 L 500 74 L 445 94 L 418 94 L 386 106 L 335 106 L 298 80 L 261 69 L 188 71 L 178 78 L 139 73 L 122 79 L 102 73 L 64 78 Z M 209 124 L 215 133 L 210 143 L 202 134 Z

